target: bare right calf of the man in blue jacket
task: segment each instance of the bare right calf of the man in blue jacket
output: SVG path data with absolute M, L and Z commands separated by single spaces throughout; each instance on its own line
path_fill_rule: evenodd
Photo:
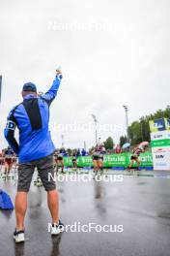
M 47 203 L 51 213 L 52 223 L 59 222 L 59 195 L 56 190 L 47 192 Z

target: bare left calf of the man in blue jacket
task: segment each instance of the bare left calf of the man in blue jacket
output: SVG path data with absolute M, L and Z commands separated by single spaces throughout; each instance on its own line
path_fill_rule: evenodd
M 24 218 L 27 209 L 27 192 L 17 192 L 15 196 L 16 230 L 24 229 Z

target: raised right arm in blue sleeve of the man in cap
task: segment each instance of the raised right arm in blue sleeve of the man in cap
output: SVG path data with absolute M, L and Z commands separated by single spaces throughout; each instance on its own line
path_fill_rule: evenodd
M 41 97 L 48 103 L 48 105 L 50 105 L 52 101 L 55 99 L 61 80 L 62 80 L 61 71 L 56 71 L 56 77 L 55 77 L 55 80 L 53 80 L 53 83 L 50 89 Z

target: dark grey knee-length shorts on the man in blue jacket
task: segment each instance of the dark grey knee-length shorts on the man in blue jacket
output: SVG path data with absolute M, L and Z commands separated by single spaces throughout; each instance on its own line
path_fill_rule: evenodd
M 53 180 L 54 178 L 53 154 L 51 154 L 39 160 L 19 164 L 17 191 L 23 191 L 23 192 L 29 191 L 32 176 L 34 174 L 36 167 L 38 169 L 39 176 L 42 179 L 42 184 L 45 190 L 51 191 L 56 188 L 55 181 Z

